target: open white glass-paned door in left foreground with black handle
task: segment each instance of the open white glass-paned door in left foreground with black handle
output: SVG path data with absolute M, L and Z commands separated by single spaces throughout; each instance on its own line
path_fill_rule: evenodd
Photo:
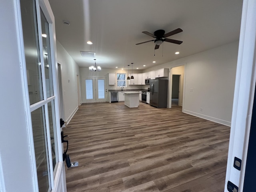
M 60 142 L 54 18 L 48 1 L 20 0 L 34 191 L 66 191 Z M 46 4 L 45 4 L 46 3 Z

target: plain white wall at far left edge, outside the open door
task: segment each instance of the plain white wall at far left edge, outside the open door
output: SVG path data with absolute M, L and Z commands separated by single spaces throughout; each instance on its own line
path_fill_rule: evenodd
M 33 191 L 14 0 L 0 2 L 0 191 Z

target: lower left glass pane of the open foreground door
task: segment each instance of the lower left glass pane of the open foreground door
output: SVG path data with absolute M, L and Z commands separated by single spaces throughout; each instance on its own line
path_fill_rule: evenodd
M 46 148 L 46 124 L 44 116 L 44 106 L 31 112 L 34 150 L 36 156 L 36 170 L 38 188 L 40 192 L 47 192 L 49 189 L 49 165 L 48 149 Z

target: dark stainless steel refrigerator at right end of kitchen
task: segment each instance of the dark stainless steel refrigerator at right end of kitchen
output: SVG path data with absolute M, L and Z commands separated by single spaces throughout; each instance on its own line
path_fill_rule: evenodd
M 150 100 L 151 106 L 157 108 L 167 107 L 168 80 L 150 79 Z

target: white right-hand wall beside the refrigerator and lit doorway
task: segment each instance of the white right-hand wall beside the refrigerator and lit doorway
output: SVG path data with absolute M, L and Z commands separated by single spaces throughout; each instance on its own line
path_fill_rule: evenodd
M 238 41 L 147 70 L 185 64 L 183 112 L 230 126 L 237 56 Z

